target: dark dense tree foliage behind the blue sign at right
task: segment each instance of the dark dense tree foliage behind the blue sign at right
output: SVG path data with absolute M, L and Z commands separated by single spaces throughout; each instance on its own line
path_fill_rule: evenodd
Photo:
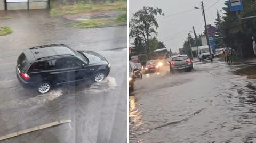
M 250 57 L 253 54 L 251 36 L 256 33 L 256 19 L 238 19 L 236 12 L 230 12 L 228 1 L 223 8 L 225 16 L 220 24 L 220 34 L 225 36 L 225 45 L 240 51 L 243 57 Z M 255 0 L 243 1 L 244 9 L 239 12 L 241 17 L 256 15 Z

